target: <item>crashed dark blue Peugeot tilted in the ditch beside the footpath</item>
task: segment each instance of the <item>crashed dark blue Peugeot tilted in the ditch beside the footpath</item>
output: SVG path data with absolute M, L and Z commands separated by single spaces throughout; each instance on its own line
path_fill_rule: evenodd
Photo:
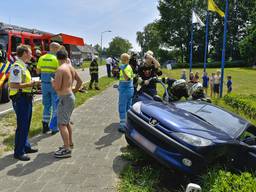
M 187 174 L 223 159 L 255 169 L 254 125 L 209 102 L 169 102 L 166 90 L 164 98 L 138 95 L 127 113 L 125 137 L 130 145 Z

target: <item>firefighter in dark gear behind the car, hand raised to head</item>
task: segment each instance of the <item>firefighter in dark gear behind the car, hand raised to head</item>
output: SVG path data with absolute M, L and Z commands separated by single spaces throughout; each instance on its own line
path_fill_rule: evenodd
M 142 88 L 141 91 L 154 96 L 157 95 L 156 82 L 150 81 L 153 77 L 161 76 L 162 72 L 159 69 L 159 62 L 153 57 L 153 52 L 148 51 L 145 54 L 144 62 L 139 66 L 139 83 Z

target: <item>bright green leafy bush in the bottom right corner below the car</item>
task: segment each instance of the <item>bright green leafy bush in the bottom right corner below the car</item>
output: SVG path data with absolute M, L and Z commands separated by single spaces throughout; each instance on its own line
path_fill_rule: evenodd
M 255 176 L 249 172 L 233 174 L 213 169 L 202 176 L 202 190 L 207 192 L 256 192 Z

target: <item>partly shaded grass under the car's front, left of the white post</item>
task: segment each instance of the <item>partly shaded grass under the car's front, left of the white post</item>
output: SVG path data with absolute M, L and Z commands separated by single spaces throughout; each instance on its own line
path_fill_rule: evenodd
M 130 163 L 121 173 L 119 192 L 184 192 L 184 175 L 166 169 L 139 148 L 127 146 L 122 158 Z

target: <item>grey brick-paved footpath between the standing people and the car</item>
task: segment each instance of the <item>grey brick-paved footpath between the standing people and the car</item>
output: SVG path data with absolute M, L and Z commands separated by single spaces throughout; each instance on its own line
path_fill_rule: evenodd
M 62 145 L 59 134 L 38 135 L 31 141 L 39 149 L 31 161 L 0 158 L 1 192 L 112 192 L 126 162 L 120 157 L 126 146 L 118 129 L 117 90 L 110 87 L 89 99 L 72 114 L 72 157 L 53 156 Z

